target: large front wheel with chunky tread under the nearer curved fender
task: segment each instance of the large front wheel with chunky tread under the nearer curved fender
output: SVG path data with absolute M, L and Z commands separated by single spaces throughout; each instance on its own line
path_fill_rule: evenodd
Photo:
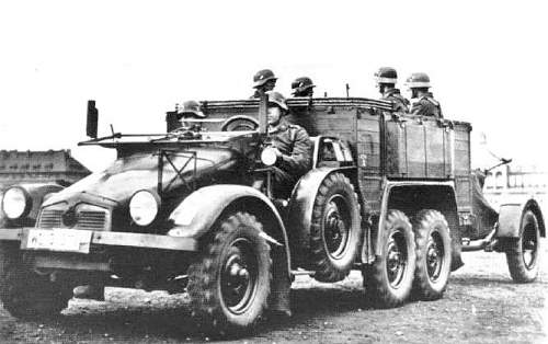
M 215 333 L 249 330 L 266 309 L 272 262 L 261 231 L 250 214 L 229 216 L 189 267 L 192 314 Z

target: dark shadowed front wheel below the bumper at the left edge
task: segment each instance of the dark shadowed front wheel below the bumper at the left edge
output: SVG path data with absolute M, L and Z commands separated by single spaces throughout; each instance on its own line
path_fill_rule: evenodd
M 55 317 L 72 298 L 72 288 L 67 280 L 50 282 L 49 274 L 31 271 L 16 245 L 0 243 L 0 298 L 13 317 Z

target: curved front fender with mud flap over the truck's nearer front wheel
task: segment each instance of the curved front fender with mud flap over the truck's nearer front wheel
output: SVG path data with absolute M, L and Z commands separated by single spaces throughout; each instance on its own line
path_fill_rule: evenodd
M 272 297 L 269 308 L 289 314 L 292 265 L 287 231 L 274 204 L 258 190 L 232 184 L 198 188 L 171 213 L 170 219 L 174 228 L 168 234 L 199 239 L 210 232 L 215 222 L 230 209 L 255 209 L 251 213 L 263 218 L 264 231 L 260 234 L 271 243 L 273 259 Z

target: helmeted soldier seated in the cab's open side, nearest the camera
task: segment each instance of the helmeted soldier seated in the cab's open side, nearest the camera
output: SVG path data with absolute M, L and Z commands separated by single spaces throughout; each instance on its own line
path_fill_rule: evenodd
M 267 94 L 269 138 L 277 156 L 273 192 L 278 198 L 287 198 L 299 177 L 310 169 L 310 138 L 302 127 L 286 122 L 289 108 L 285 98 L 274 91 Z

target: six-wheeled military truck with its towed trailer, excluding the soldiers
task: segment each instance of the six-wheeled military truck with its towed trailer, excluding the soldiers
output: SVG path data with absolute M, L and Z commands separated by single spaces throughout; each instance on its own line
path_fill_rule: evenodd
M 116 149 L 106 170 L 44 198 L 4 192 L 0 297 L 20 318 L 58 313 L 78 285 L 189 293 L 217 333 L 290 313 L 296 274 L 363 274 L 378 307 L 443 296 L 461 251 L 504 252 L 516 282 L 534 280 L 535 200 L 496 211 L 475 202 L 467 123 L 415 117 L 368 99 L 293 99 L 312 165 L 289 198 L 272 193 L 266 98 L 202 102 L 204 119 L 167 134 L 96 137 L 90 103 L 82 146 Z

